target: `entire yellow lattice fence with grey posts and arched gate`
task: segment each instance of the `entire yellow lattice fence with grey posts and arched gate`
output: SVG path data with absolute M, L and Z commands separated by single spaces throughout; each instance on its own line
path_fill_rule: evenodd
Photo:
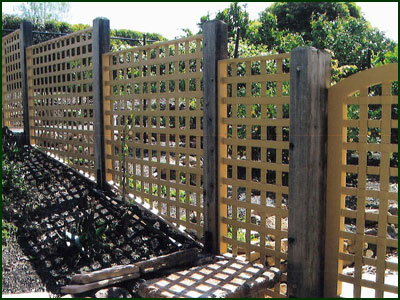
M 219 21 L 117 52 L 104 18 L 30 47 L 22 28 L 2 39 L 3 126 L 207 250 L 280 268 L 287 292 L 278 284 L 269 296 L 336 297 L 346 285 L 354 297 L 397 294 L 386 279 L 398 269 L 388 258 L 398 249 L 397 64 L 344 80 L 328 101 L 326 52 L 223 59 Z

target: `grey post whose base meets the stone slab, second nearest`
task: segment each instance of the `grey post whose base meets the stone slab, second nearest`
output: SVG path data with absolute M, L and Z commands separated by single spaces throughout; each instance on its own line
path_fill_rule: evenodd
M 205 248 L 219 253 L 218 243 L 218 60 L 228 57 L 227 25 L 203 25 L 203 190 Z

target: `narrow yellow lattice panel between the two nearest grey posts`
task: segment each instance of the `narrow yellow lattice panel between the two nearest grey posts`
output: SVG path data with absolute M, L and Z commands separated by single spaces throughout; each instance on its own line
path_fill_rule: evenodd
M 289 80 L 289 54 L 219 62 L 221 251 L 278 268 L 288 247 Z

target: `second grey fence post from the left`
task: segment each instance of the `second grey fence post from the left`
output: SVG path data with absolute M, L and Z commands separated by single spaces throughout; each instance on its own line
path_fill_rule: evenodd
M 93 20 L 93 92 L 96 179 L 100 189 L 105 188 L 105 147 L 103 116 L 103 62 L 102 55 L 110 51 L 110 20 Z

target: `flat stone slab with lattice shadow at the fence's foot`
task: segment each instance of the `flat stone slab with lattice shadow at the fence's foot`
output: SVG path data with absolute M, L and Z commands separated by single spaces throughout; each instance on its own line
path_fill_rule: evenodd
M 143 298 L 262 298 L 278 281 L 278 272 L 226 259 L 149 280 L 138 293 Z

